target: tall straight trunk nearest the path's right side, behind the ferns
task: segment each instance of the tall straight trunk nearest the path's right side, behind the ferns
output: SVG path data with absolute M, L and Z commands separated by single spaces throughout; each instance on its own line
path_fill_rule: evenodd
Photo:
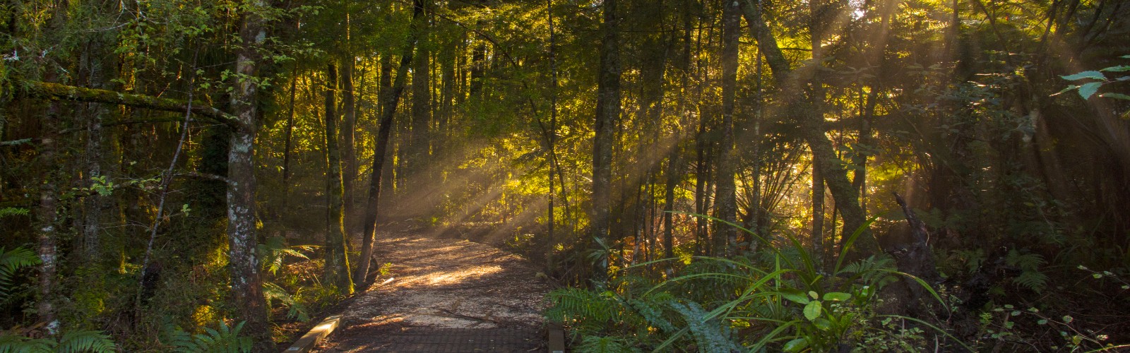
M 605 0 L 603 43 L 597 86 L 597 114 L 592 147 L 592 241 L 607 247 L 609 241 L 609 197 L 612 178 L 612 130 L 620 115 L 619 19 L 616 0 Z M 608 256 L 601 251 L 592 278 L 608 276 Z

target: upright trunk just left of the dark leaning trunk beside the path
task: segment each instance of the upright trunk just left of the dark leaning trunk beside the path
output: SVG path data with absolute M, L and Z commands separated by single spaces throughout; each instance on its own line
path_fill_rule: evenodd
M 341 203 L 341 150 L 338 146 L 337 67 L 325 68 L 325 266 L 323 281 L 340 293 L 353 293 L 349 259 L 346 257 L 345 216 Z

